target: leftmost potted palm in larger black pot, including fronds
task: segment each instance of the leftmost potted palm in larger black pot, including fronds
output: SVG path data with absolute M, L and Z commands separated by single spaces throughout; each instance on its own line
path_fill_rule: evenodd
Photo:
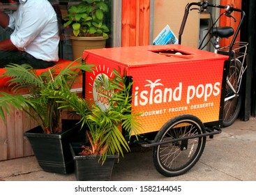
M 60 72 L 57 67 L 40 75 L 30 65 L 8 65 L 2 77 L 8 81 L 12 93 L 0 93 L 0 116 L 6 119 L 13 109 L 26 112 L 38 122 L 38 127 L 25 132 L 29 139 L 38 164 L 44 171 L 70 173 L 73 169 L 73 157 L 68 143 L 80 130 L 75 120 L 61 120 L 63 109 L 53 98 L 41 95 L 45 89 L 70 91 L 80 70 L 90 70 L 89 65 L 70 64 Z M 26 91 L 26 95 L 24 94 Z M 63 123 L 62 123 L 63 122 Z

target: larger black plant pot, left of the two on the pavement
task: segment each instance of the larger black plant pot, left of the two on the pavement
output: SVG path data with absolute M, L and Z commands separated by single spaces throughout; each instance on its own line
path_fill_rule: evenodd
M 80 126 L 76 123 L 77 120 L 63 120 L 63 131 L 58 134 L 43 134 L 40 126 L 24 132 L 43 171 L 61 174 L 74 172 L 69 143 L 77 140 L 80 132 Z

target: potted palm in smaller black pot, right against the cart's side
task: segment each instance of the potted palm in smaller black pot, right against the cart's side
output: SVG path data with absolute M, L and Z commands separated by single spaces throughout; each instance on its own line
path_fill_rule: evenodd
M 131 111 L 132 83 L 126 84 L 126 78 L 116 70 L 114 75 L 112 79 L 104 75 L 98 77 L 94 86 L 111 92 L 111 95 L 103 95 L 109 104 L 106 109 L 89 104 L 69 91 L 44 91 L 43 95 L 59 98 L 60 109 L 70 109 L 80 116 L 80 124 L 88 130 L 87 143 L 70 143 L 77 180 L 110 180 L 115 159 L 123 155 L 123 150 L 130 150 L 124 132 L 128 138 L 140 132 L 140 121 L 137 120 L 140 114 Z

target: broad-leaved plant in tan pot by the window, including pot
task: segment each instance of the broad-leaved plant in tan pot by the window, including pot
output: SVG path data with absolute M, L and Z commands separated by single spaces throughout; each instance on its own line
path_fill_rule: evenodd
M 64 27 L 71 26 L 73 35 L 70 40 L 73 47 L 73 58 L 82 56 L 84 49 L 98 49 L 106 45 L 107 33 L 110 31 L 105 22 L 108 11 L 105 0 L 82 0 L 70 6 L 64 17 Z

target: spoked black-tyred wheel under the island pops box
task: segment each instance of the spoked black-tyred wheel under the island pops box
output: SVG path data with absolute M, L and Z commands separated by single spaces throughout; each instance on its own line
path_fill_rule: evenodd
M 191 115 L 180 115 L 169 120 L 156 135 L 155 141 L 168 141 L 205 133 L 201 120 Z M 201 157 L 206 137 L 185 139 L 153 148 L 153 163 L 163 176 L 180 176 L 189 171 Z

